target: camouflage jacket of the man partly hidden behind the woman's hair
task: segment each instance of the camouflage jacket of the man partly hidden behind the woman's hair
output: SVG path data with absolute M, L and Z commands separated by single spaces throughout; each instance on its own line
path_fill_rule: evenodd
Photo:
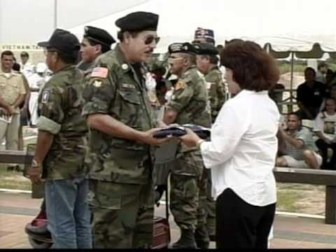
M 212 68 L 209 73 L 204 76 L 209 91 L 211 119 L 213 123 L 225 102 L 225 85 L 222 77 L 222 72 L 218 69 L 218 66 Z

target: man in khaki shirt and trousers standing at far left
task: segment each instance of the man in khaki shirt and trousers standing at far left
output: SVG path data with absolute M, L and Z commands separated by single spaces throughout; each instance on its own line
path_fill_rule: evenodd
M 20 126 L 19 105 L 25 100 L 25 86 L 21 73 L 12 71 L 13 52 L 1 53 L 0 69 L 0 143 L 6 137 L 6 149 L 18 150 L 18 129 Z M 10 123 L 6 120 L 11 114 Z

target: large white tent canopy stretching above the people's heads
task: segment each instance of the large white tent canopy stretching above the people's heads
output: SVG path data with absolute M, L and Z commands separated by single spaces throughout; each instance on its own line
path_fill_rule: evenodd
M 250 39 L 274 50 L 310 50 L 320 43 L 323 50 L 336 50 L 333 29 L 334 0 L 147 0 L 106 18 L 89 22 L 116 36 L 114 22 L 127 13 L 144 10 L 160 15 L 156 52 L 170 43 L 192 41 L 197 27 L 214 29 L 216 42 L 231 38 Z M 71 29 L 83 34 L 84 25 Z

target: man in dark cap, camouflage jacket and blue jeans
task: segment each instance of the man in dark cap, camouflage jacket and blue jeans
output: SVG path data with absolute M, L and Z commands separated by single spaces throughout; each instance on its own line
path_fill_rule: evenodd
M 83 109 L 83 73 L 76 68 L 76 36 L 56 29 L 46 48 L 45 63 L 55 74 L 38 97 L 38 140 L 29 169 L 33 183 L 45 179 L 48 228 L 55 248 L 92 248 L 88 192 L 87 125 Z

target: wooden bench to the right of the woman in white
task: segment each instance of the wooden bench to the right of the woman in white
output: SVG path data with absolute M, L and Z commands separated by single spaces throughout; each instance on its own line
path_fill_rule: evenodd
M 336 172 L 275 167 L 274 176 L 277 182 L 325 186 L 325 224 L 336 224 Z

